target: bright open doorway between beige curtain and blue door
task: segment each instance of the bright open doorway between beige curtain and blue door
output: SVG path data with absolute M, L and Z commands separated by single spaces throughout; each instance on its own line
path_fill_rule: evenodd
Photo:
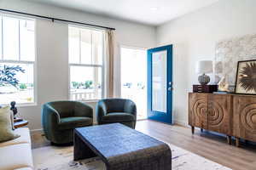
M 137 119 L 147 118 L 147 50 L 121 48 L 121 96 L 137 105 Z

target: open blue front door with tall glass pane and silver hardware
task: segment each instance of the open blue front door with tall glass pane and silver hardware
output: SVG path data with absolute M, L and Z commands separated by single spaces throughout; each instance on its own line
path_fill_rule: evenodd
M 172 45 L 148 49 L 148 119 L 172 124 Z

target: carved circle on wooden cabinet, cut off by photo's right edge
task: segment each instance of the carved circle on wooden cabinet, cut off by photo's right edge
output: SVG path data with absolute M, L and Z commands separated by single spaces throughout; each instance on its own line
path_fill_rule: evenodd
M 245 105 L 241 109 L 240 120 L 248 132 L 256 134 L 256 104 Z

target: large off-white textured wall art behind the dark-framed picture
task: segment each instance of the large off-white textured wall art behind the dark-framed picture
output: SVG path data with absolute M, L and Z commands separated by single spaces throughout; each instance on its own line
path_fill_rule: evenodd
M 222 77 L 230 85 L 236 83 L 237 62 L 256 59 L 256 34 L 218 42 L 214 59 L 215 82 Z

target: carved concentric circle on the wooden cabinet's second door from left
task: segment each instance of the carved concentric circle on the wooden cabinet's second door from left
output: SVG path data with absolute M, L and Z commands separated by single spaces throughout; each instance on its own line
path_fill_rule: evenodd
M 218 127 L 224 120 L 224 109 L 219 105 L 218 101 L 211 101 L 209 108 L 208 122 L 212 127 Z

